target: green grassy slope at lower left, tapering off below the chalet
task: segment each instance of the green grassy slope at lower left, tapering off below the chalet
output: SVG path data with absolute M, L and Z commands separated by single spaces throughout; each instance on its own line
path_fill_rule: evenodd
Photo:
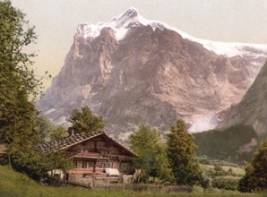
M 167 194 L 166 194 L 167 195 Z M 142 194 L 134 192 L 116 192 L 84 190 L 73 187 L 42 186 L 31 180 L 28 176 L 14 172 L 9 167 L 0 166 L 0 196 L 1 197 L 123 197 L 123 196 L 155 196 L 155 194 Z M 164 196 L 164 195 L 156 195 Z M 168 195 L 175 196 L 175 195 Z M 177 195 L 176 195 L 177 196 Z

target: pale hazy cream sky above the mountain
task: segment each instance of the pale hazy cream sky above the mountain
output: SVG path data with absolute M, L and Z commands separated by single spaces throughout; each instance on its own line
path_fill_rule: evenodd
M 36 26 L 39 74 L 64 65 L 80 22 L 109 21 L 131 6 L 200 39 L 267 44 L 267 0 L 12 0 Z M 50 81 L 45 81 L 49 85 Z

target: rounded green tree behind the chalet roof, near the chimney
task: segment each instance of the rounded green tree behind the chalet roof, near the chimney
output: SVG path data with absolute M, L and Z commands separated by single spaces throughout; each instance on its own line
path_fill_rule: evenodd
M 102 116 L 93 115 L 88 106 L 82 107 L 81 110 L 74 109 L 70 122 L 75 133 L 90 133 L 104 129 Z

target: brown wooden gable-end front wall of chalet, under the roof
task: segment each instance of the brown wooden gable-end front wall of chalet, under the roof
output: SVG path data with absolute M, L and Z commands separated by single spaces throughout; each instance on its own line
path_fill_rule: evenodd
M 73 155 L 72 174 L 101 176 L 105 168 L 116 168 L 127 174 L 131 170 L 134 154 L 111 140 L 105 133 L 74 145 L 69 152 Z

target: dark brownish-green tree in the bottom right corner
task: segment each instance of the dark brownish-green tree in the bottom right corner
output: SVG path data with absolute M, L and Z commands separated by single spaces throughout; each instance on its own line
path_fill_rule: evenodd
M 267 139 L 254 154 L 251 164 L 245 167 L 245 176 L 240 180 L 240 192 L 267 192 Z

